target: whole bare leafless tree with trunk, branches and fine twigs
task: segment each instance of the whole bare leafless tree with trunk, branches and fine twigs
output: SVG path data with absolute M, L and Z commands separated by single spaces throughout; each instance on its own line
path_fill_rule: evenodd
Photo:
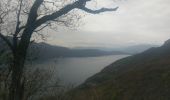
M 9 100 L 23 99 L 23 69 L 33 33 L 55 24 L 69 26 L 79 19 L 76 9 L 99 14 L 117 8 L 93 10 L 86 3 L 93 0 L 3 0 L 0 6 L 0 38 L 12 51 Z M 4 26 L 8 27 L 4 27 Z M 12 41 L 6 38 L 8 34 Z

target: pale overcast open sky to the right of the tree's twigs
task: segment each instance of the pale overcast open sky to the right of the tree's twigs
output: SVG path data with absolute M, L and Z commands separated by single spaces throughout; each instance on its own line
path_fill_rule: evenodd
M 97 0 L 87 7 L 116 7 L 116 12 L 86 14 L 76 30 L 50 32 L 47 42 L 66 47 L 161 45 L 170 38 L 170 0 Z M 52 33 L 52 34 L 51 34 Z

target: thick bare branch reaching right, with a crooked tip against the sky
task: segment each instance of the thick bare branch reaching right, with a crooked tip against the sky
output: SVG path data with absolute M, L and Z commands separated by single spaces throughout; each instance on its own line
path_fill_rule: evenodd
M 73 10 L 75 8 L 84 10 L 84 11 L 86 11 L 88 13 L 92 13 L 92 14 L 98 14 L 98 13 L 107 12 L 107 11 L 116 11 L 118 9 L 118 7 L 116 7 L 116 8 L 101 8 L 99 10 L 92 10 L 92 9 L 85 7 L 86 2 L 89 2 L 89 1 L 91 1 L 91 0 L 78 0 L 72 4 L 66 5 L 65 7 L 61 8 L 60 10 L 58 10 L 50 15 L 43 16 L 42 18 L 40 18 L 36 21 L 35 27 L 37 28 L 48 21 L 53 21 L 53 20 L 57 19 L 58 17 L 67 14 L 68 12 L 70 12 L 71 10 Z

